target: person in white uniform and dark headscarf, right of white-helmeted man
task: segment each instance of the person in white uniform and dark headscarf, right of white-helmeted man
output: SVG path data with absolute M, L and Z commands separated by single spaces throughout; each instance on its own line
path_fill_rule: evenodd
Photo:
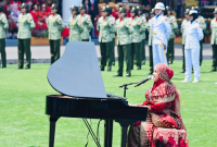
M 189 22 L 184 26 L 183 35 L 186 37 L 184 54 L 186 54 L 186 78 L 182 81 L 191 82 L 191 70 L 193 65 L 194 81 L 199 83 L 201 77 L 200 70 L 200 40 L 203 39 L 204 34 L 201 25 L 196 22 L 197 11 L 190 10 Z

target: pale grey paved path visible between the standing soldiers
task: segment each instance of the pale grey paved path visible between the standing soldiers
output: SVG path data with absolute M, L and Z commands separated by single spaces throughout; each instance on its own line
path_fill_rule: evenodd
M 182 59 L 181 45 L 175 45 L 175 60 Z M 209 44 L 203 45 L 204 59 L 212 59 L 212 46 Z M 61 46 L 61 54 L 63 54 L 65 46 Z M 101 58 L 100 47 L 95 46 L 98 58 Z M 149 48 L 145 47 L 146 59 L 149 58 Z M 115 57 L 117 58 L 117 49 L 115 49 Z M 7 59 L 8 63 L 17 63 L 17 47 L 7 47 Z M 47 63 L 50 62 L 50 48 L 49 46 L 31 46 L 31 59 L 35 63 Z

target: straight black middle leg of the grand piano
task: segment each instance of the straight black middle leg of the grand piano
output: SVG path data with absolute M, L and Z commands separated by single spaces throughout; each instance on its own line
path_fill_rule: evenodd
M 105 120 L 104 147 L 112 147 L 113 120 Z

